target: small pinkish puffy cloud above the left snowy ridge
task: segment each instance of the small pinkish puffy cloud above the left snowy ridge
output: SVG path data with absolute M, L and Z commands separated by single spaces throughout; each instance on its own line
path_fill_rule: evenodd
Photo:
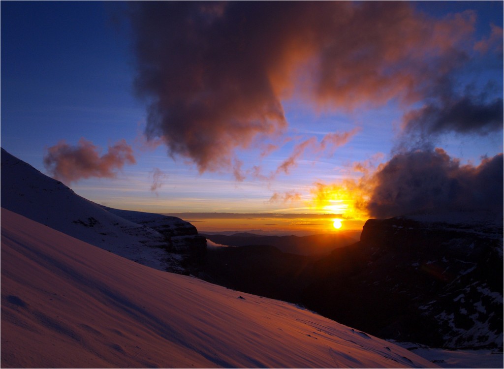
M 108 152 L 99 155 L 100 150 L 90 141 L 81 138 L 77 146 L 65 141 L 47 149 L 44 165 L 56 179 L 70 183 L 82 178 L 114 178 L 124 164 L 135 164 L 133 149 L 125 140 L 108 147 Z

